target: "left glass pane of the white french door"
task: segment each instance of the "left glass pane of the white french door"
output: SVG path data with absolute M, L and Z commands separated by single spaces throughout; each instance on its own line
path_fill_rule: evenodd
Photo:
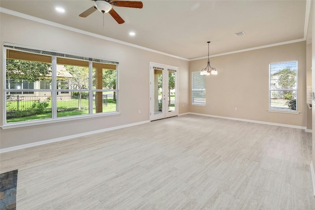
M 162 70 L 154 69 L 154 114 L 161 114 L 162 110 L 162 96 L 163 96 L 163 77 Z

